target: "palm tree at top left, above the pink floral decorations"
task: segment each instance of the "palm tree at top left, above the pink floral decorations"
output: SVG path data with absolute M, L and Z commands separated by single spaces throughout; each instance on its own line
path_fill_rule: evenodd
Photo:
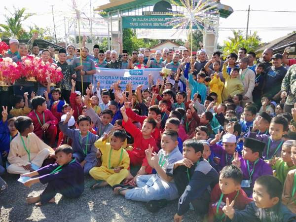
M 4 7 L 7 12 L 9 12 L 10 16 L 5 15 L 6 24 L 0 24 L 0 28 L 2 32 L 0 33 L 2 37 L 13 37 L 20 39 L 25 34 L 25 30 L 22 27 L 22 22 L 28 19 L 30 16 L 34 15 L 32 13 L 24 13 L 26 8 L 17 9 L 14 8 L 14 12 L 8 11 L 6 7 Z

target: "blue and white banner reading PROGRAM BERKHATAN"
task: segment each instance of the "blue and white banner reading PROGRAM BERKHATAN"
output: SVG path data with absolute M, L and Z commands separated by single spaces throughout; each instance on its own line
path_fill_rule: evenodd
M 98 80 L 100 81 L 101 89 L 110 89 L 111 84 L 120 80 L 122 90 L 125 90 L 125 85 L 131 81 L 133 89 L 135 90 L 138 85 L 143 85 L 143 89 L 148 88 L 148 74 L 151 74 L 156 83 L 158 78 L 161 78 L 159 72 L 161 69 L 139 69 L 139 70 L 118 70 L 97 68 L 97 73 L 94 74 L 95 85 Z

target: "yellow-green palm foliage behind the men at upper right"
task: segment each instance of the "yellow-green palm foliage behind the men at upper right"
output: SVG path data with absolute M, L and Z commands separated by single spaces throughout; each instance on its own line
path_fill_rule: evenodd
M 255 52 L 261 43 L 260 37 L 257 35 L 257 32 L 254 32 L 251 36 L 244 37 L 242 31 L 232 30 L 233 37 L 228 37 L 228 40 L 224 40 L 223 43 L 223 54 L 228 55 L 231 52 L 238 53 L 239 48 L 246 48 L 248 52 Z

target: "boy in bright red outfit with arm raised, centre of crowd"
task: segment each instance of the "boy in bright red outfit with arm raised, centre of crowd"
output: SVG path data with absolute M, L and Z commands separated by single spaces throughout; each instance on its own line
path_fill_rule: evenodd
M 125 107 L 121 107 L 120 111 L 123 117 L 122 126 L 134 138 L 134 148 L 132 150 L 127 150 L 130 157 L 130 165 L 142 165 L 134 179 L 130 173 L 126 179 L 126 182 L 133 179 L 133 181 L 130 182 L 130 184 L 133 185 L 135 184 L 136 178 L 138 176 L 150 173 L 146 172 L 146 168 L 148 166 L 147 160 L 143 160 L 146 157 L 146 149 L 151 147 L 153 148 L 153 152 L 158 150 L 155 139 L 151 136 L 152 132 L 155 131 L 156 121 L 153 118 L 146 118 L 143 122 L 142 130 L 140 130 L 128 118 Z

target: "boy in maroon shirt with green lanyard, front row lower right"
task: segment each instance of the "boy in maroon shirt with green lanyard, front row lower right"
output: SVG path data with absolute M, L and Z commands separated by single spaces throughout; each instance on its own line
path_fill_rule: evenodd
M 241 188 L 243 174 L 240 169 L 234 165 L 223 167 L 220 172 L 219 184 L 211 192 L 211 203 L 209 209 L 208 222 L 225 221 L 225 214 L 222 208 L 225 205 L 226 198 L 231 202 L 234 200 L 233 207 L 238 210 L 244 210 L 252 202 Z

